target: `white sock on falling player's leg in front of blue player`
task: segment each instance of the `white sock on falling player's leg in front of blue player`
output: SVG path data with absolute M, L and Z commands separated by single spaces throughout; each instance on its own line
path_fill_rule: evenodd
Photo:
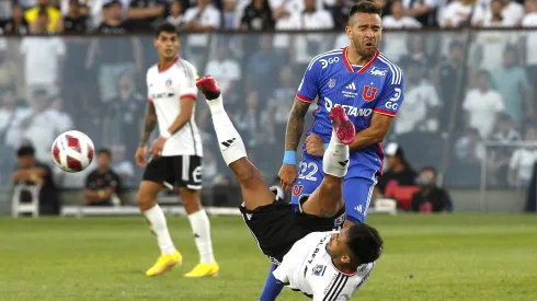
M 322 170 L 325 174 L 344 177 L 349 169 L 349 146 L 343 144 L 332 130 L 332 138 L 322 158 Z

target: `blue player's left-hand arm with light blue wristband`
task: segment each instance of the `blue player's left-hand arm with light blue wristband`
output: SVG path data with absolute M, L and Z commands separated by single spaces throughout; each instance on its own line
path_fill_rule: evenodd
M 300 101 L 295 97 L 295 104 L 287 119 L 287 129 L 285 130 L 285 155 L 284 164 L 279 170 L 278 176 L 282 180 L 282 186 L 285 190 L 290 190 L 298 176 L 297 172 L 297 148 L 304 132 L 306 113 L 310 103 Z

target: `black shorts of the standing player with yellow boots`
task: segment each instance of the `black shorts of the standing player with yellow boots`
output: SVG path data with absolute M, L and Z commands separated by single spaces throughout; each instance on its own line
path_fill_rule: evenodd
M 202 158 L 171 155 L 153 158 L 144 171 L 144 181 L 164 182 L 175 187 L 202 189 Z

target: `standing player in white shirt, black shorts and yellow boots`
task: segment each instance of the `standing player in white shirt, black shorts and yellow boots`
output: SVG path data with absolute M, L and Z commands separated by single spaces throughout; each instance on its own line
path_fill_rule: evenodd
M 146 275 L 160 275 L 182 263 L 182 256 L 170 238 L 164 213 L 156 200 L 167 182 L 179 186 L 199 252 L 201 263 L 185 277 L 216 276 L 219 267 L 213 255 L 209 219 L 199 199 L 203 150 L 194 121 L 196 70 L 178 56 L 180 39 L 172 24 L 164 23 L 158 27 L 153 44 L 159 62 L 147 71 L 148 107 L 136 163 L 146 167 L 138 192 L 138 206 L 157 235 L 161 256 Z M 146 146 L 157 123 L 160 136 L 151 146 L 152 159 L 148 163 Z

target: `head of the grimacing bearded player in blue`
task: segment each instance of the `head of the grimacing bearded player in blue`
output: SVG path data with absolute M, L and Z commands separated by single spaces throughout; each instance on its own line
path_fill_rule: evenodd
M 361 0 L 349 11 L 345 27 L 351 47 L 362 57 L 373 57 L 380 44 L 382 24 L 381 8 L 370 0 Z

